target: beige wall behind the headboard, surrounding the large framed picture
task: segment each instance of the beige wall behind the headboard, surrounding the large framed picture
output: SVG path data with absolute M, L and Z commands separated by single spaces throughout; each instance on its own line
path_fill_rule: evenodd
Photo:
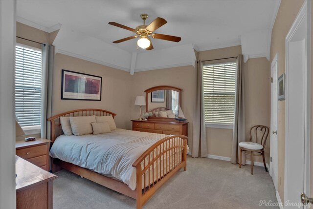
M 102 77 L 101 101 L 61 100 L 62 69 Z M 91 63 L 63 54 L 54 56 L 52 115 L 81 108 L 99 108 L 116 113 L 117 127 L 130 129 L 134 106 L 131 97 L 132 76 L 129 72 Z

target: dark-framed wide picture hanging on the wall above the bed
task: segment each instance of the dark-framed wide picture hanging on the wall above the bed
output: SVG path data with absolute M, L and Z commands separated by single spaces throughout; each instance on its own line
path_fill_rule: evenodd
M 61 100 L 101 101 L 102 77 L 62 70 Z

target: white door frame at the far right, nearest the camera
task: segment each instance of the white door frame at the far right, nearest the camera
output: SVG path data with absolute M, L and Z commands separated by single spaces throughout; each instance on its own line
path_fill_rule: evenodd
M 286 104 L 285 104 L 285 179 L 284 179 L 284 201 L 287 200 L 288 193 L 288 98 L 289 98 L 289 42 L 295 35 L 298 27 L 307 18 L 307 31 L 306 31 L 306 50 L 305 53 L 305 84 L 304 84 L 304 192 L 310 196 L 310 117 L 311 117 L 311 0 L 305 0 L 296 19 L 291 25 L 291 28 L 286 36 L 285 46 L 285 64 L 286 64 Z M 299 194 L 300 201 L 300 194 Z

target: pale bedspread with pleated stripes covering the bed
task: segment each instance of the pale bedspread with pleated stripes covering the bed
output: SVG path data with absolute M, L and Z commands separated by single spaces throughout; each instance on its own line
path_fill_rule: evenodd
M 117 129 L 112 133 L 59 136 L 49 155 L 101 174 L 110 174 L 136 188 L 134 161 L 150 146 L 168 135 Z M 187 147 L 187 153 L 189 148 Z

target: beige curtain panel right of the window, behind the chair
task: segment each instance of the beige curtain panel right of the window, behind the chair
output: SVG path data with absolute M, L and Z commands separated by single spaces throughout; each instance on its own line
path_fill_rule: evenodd
M 238 55 L 236 61 L 236 94 L 235 94 L 235 113 L 234 129 L 232 140 L 232 151 L 230 162 L 238 163 L 239 146 L 238 144 L 246 141 L 246 115 L 245 115 L 245 83 L 243 71 L 243 56 Z M 242 165 L 246 164 L 246 155 L 243 154 Z

